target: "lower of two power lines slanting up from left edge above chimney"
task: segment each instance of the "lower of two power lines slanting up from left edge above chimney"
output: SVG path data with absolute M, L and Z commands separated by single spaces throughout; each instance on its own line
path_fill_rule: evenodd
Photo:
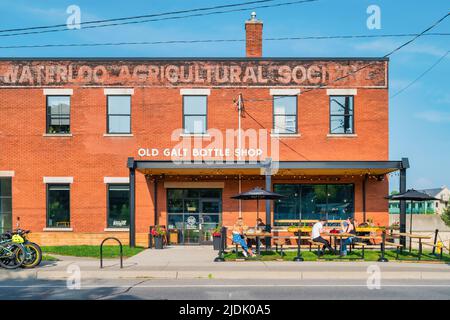
M 163 17 L 163 18 L 146 19 L 146 20 L 140 20 L 140 21 L 125 21 L 125 22 L 98 24 L 98 25 L 86 26 L 86 27 L 84 27 L 82 29 L 68 29 L 67 26 L 64 25 L 64 28 L 62 28 L 62 29 L 58 29 L 57 28 L 57 29 L 52 29 L 52 30 L 40 30 L 40 31 L 28 31 L 28 32 L 19 32 L 19 33 L 7 33 L 7 34 L 0 34 L 0 37 L 12 37 L 12 36 L 18 36 L 18 35 L 42 34 L 42 33 L 60 32 L 60 31 L 72 31 L 72 30 L 85 30 L 85 29 L 104 28 L 104 27 L 121 26 L 121 25 L 131 25 L 131 24 L 138 24 L 138 23 L 145 23 L 145 22 L 154 22 L 154 21 L 177 20 L 177 19 L 184 19 L 184 18 L 191 18 L 191 17 L 203 17 L 203 16 L 210 16 L 210 15 L 215 15 L 215 14 L 241 12 L 241 11 L 255 10 L 255 9 L 267 9 L 267 8 L 274 8 L 274 7 L 282 7 L 282 6 L 288 6 L 288 5 L 294 5 L 294 4 L 302 4 L 302 3 L 308 3 L 308 2 L 316 2 L 316 1 L 320 1 L 320 0 L 296 0 L 296 1 L 290 1 L 290 2 L 281 2 L 281 3 L 276 3 L 276 4 L 267 4 L 267 5 L 258 5 L 258 6 L 253 6 L 253 7 L 246 7 L 246 8 L 237 8 L 237 9 L 222 10 L 222 11 L 195 13 L 195 14 L 188 14 L 188 15 L 175 16 L 175 17 Z M 211 9 L 209 9 L 209 10 L 211 10 Z

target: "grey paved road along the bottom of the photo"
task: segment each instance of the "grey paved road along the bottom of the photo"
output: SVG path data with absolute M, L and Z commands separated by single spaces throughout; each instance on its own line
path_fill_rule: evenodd
M 2 290 L 2 288 L 7 290 Z M 450 299 L 450 281 L 96 280 L 69 290 L 61 280 L 6 280 L 0 299 Z

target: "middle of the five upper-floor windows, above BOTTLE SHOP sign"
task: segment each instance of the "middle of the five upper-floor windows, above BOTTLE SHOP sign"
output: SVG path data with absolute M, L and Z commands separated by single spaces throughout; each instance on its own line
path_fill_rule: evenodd
M 183 128 L 187 134 L 206 133 L 207 96 L 183 96 Z

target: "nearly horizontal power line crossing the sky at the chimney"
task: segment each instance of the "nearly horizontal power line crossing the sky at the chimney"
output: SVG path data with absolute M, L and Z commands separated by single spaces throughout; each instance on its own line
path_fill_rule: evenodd
M 335 36 L 300 36 L 263 38 L 264 41 L 293 41 L 293 40 L 329 40 L 329 39 L 359 39 L 359 38 L 397 38 L 417 36 L 415 33 L 380 34 L 380 35 L 335 35 Z M 450 33 L 427 33 L 424 36 L 450 36 Z M 55 48 L 55 47 L 100 47 L 100 46 L 124 46 L 124 45 L 158 45 L 158 44 L 196 44 L 196 43 L 221 43 L 221 42 L 245 42 L 245 39 L 198 39 L 198 40 L 161 40 L 161 41 L 136 41 L 136 42 L 102 42 L 102 43 L 68 43 L 68 44 L 30 44 L 0 46 L 0 49 L 27 49 L 27 48 Z

